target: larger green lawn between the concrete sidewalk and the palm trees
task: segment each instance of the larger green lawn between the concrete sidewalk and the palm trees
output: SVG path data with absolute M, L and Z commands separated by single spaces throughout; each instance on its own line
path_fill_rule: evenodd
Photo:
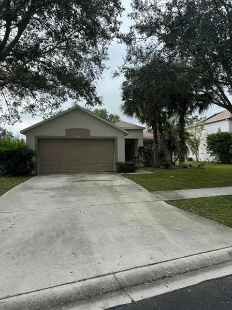
M 207 163 L 204 169 L 149 170 L 154 173 L 128 174 L 125 177 L 150 191 L 232 186 L 232 165 Z

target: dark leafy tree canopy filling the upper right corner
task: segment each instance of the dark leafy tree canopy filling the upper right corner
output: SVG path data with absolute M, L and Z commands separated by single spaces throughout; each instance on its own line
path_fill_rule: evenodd
M 198 75 L 192 90 L 232 112 L 232 4 L 230 0 L 133 0 L 128 46 L 146 40 Z M 130 47 L 131 48 L 131 47 Z M 206 98 L 206 97 L 205 97 Z

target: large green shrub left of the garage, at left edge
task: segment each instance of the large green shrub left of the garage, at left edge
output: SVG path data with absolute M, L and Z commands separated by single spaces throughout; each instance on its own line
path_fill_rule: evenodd
M 36 155 L 23 139 L 0 142 L 0 172 L 3 175 L 26 175 L 34 169 L 33 157 Z

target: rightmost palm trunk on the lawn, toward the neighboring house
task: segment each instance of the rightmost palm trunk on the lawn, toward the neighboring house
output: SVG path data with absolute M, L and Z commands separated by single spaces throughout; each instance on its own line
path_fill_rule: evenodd
M 178 122 L 178 156 L 180 165 L 185 162 L 185 110 L 178 109 L 179 122 Z

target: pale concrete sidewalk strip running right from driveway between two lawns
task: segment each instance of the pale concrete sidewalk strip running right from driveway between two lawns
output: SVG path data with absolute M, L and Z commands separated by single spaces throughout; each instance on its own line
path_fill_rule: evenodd
M 163 201 L 232 195 L 232 186 L 165 190 L 152 192 Z

